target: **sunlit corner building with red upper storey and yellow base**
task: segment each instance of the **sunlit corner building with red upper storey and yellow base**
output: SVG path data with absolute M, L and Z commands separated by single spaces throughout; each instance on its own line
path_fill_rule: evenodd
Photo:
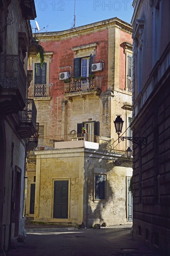
M 114 164 L 127 161 L 130 145 L 118 143 L 113 124 L 121 114 L 131 132 L 132 27 L 113 18 L 37 36 L 45 64 L 29 61 L 39 138 L 27 162 L 26 214 L 86 226 L 132 221 L 132 160 Z

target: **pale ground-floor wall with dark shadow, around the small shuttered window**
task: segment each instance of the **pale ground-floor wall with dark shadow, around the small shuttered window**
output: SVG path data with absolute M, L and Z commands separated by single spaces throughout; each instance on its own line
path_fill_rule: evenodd
M 102 162 L 104 164 L 101 165 Z M 112 161 L 103 159 L 102 162 L 100 158 L 89 158 L 88 171 L 85 172 L 84 202 L 86 202 L 86 205 L 83 207 L 83 222 L 86 227 L 91 227 L 96 223 L 102 224 L 103 222 L 107 226 L 124 224 L 126 219 L 126 175 L 125 173 L 118 174 L 115 172 Z M 98 166 L 99 168 L 96 168 Z M 100 187 L 100 180 L 101 183 L 105 183 L 104 199 L 102 191 L 100 191 L 100 189 L 103 189 L 102 185 Z M 99 199 L 100 196 L 101 200 Z

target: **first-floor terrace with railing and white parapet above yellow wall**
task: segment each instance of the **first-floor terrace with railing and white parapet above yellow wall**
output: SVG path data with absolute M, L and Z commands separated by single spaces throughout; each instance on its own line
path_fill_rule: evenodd
M 38 150 L 52 150 L 60 148 L 99 148 L 98 135 L 67 134 L 38 138 Z

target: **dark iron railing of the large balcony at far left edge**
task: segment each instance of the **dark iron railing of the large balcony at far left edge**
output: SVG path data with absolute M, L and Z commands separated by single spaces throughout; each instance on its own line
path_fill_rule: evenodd
M 26 74 L 19 55 L 0 54 L 0 88 L 19 90 L 26 98 Z

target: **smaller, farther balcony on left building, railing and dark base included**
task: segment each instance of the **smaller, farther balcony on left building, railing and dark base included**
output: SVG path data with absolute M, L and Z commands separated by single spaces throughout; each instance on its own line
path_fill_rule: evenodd
M 32 99 L 26 99 L 26 106 L 23 111 L 19 113 L 20 125 L 18 128 L 18 134 L 23 139 L 31 137 L 36 134 L 36 119 L 37 109 Z

